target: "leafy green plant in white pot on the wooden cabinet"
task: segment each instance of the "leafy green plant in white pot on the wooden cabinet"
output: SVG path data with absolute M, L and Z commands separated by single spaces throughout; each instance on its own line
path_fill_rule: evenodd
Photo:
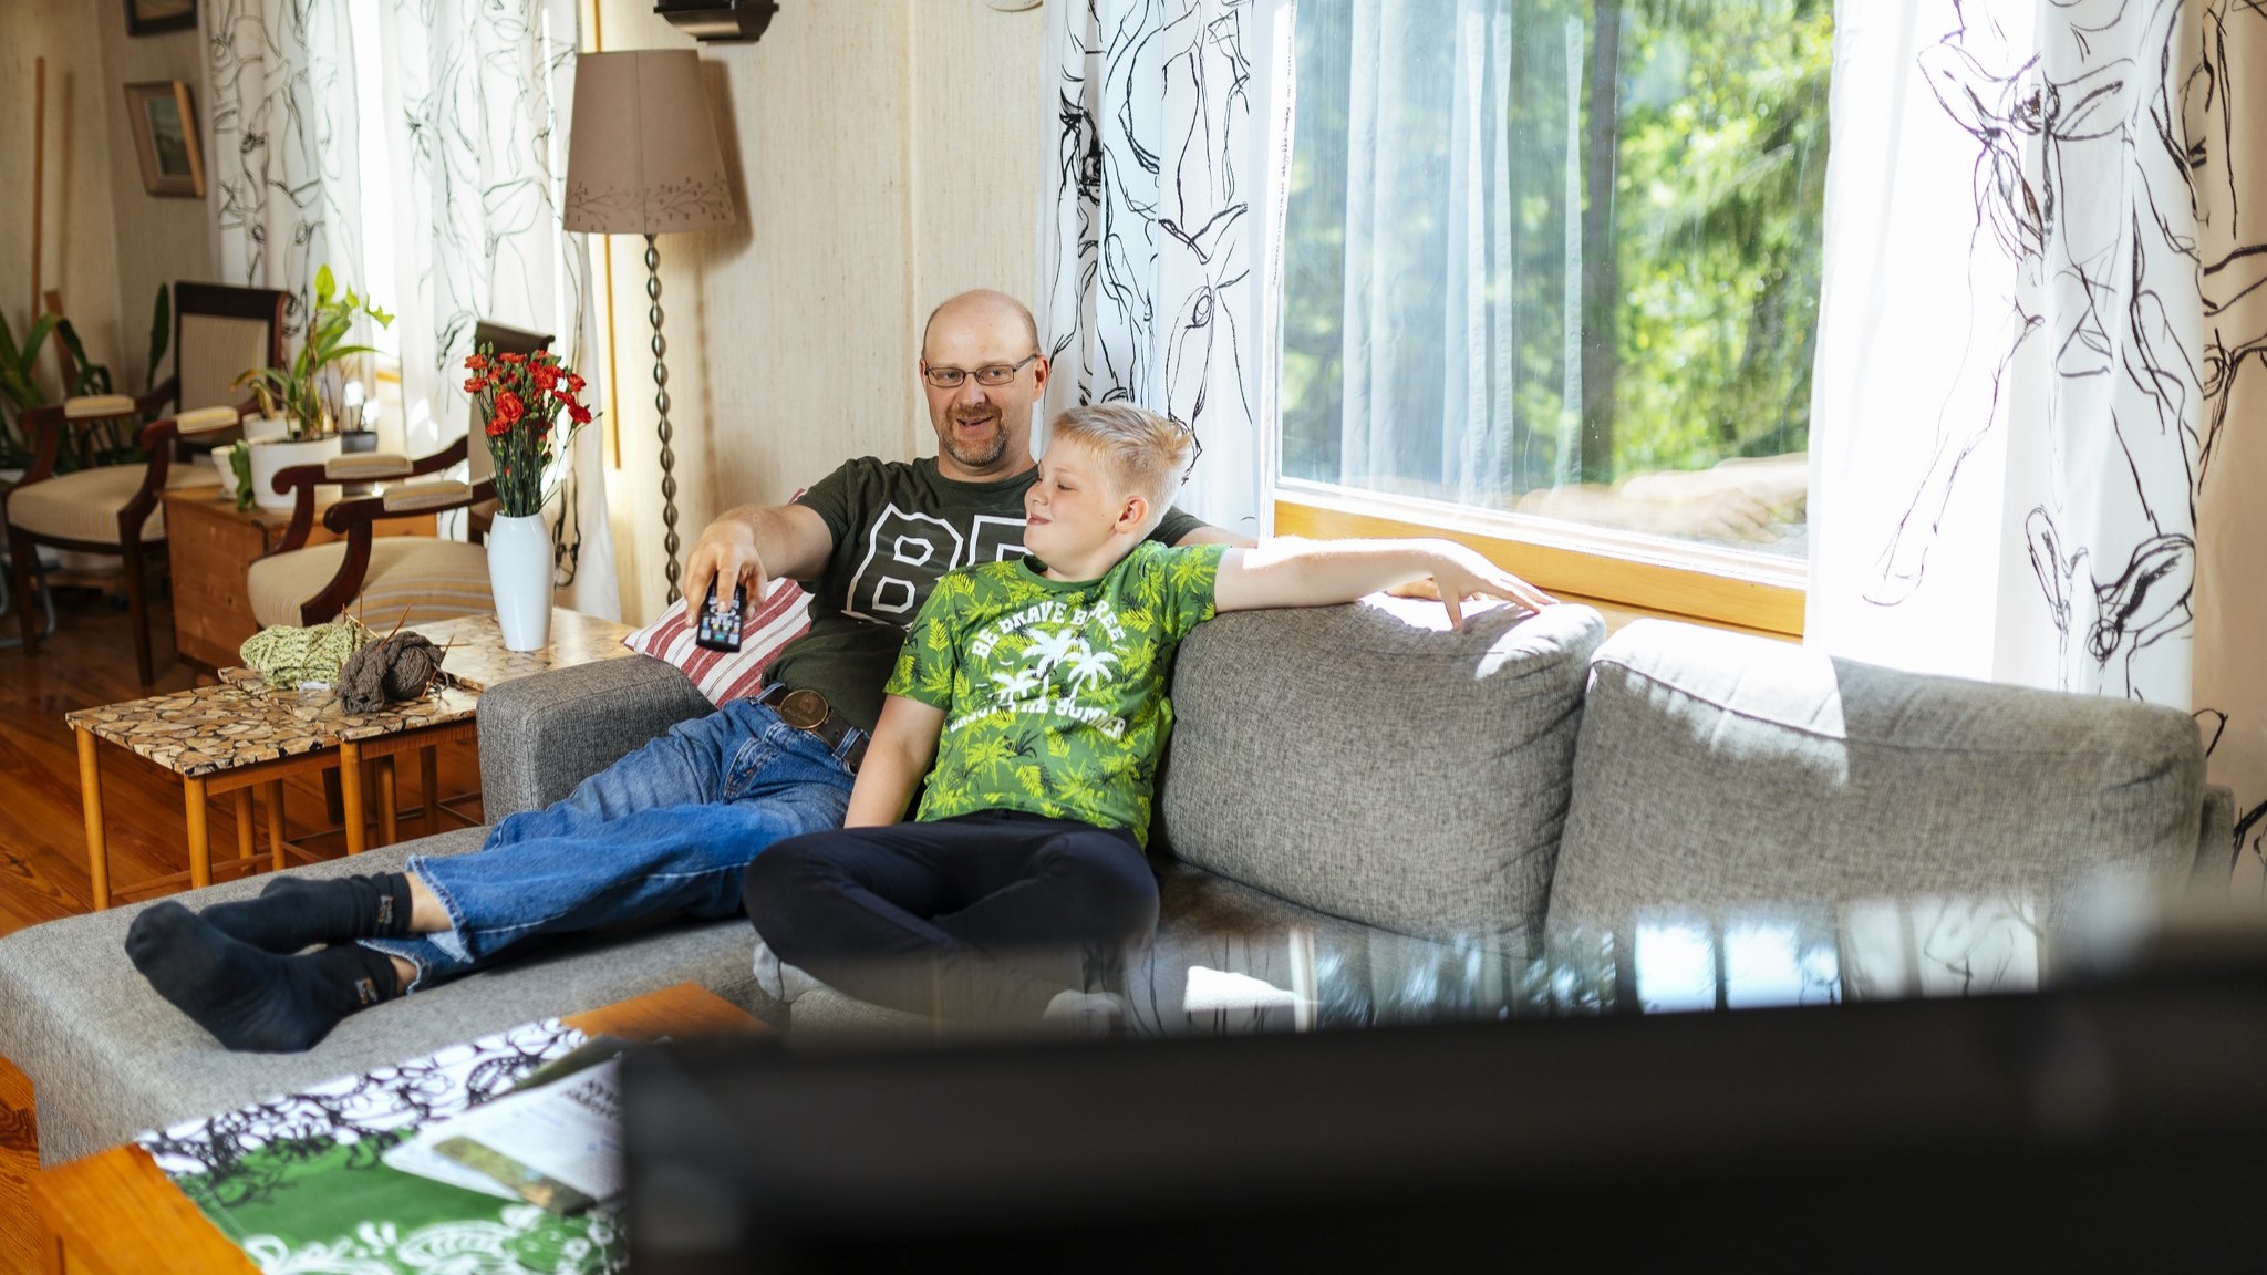
M 338 420 L 345 406 L 345 361 L 376 354 L 372 345 L 347 345 L 360 315 L 379 327 L 394 315 L 379 309 L 354 288 L 338 290 L 338 279 L 324 265 L 315 272 L 315 304 L 308 309 L 306 338 L 290 368 L 252 368 L 236 379 L 249 383 L 261 399 L 261 415 L 245 420 L 245 449 L 238 481 L 252 483 L 252 501 L 261 508 L 290 508 L 292 497 L 274 490 L 279 470 L 322 465 L 340 451 Z M 238 488 L 240 497 L 240 488 Z

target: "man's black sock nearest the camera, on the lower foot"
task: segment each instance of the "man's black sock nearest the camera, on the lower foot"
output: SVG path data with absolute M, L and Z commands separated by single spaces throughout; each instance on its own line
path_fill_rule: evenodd
M 392 957 L 345 944 L 272 955 L 154 903 L 127 930 L 127 955 L 159 996 L 231 1050 L 302 1053 L 347 1014 L 399 994 Z

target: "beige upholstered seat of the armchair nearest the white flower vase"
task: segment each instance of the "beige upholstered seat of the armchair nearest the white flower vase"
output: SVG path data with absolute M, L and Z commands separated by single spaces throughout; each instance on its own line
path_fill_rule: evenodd
M 252 617 L 263 628 L 299 624 L 299 608 L 331 583 L 345 556 L 347 542 L 333 540 L 252 563 L 245 574 Z M 433 624 L 492 610 L 496 601 L 487 588 L 487 549 L 433 535 L 372 540 L 363 592 L 347 603 L 347 615 L 360 617 L 379 633 L 392 633 L 397 622 Z

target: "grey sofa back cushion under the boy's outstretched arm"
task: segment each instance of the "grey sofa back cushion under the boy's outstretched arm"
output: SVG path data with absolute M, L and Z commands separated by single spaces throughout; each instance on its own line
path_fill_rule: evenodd
M 1532 944 L 1603 638 L 1585 606 L 1449 633 L 1437 603 L 1396 599 L 1199 624 L 1172 678 L 1161 842 L 1333 917 Z

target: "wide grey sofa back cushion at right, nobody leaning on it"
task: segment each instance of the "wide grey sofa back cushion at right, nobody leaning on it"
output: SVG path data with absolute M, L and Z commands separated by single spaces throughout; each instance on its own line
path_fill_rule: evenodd
M 1551 928 L 1918 896 L 2049 919 L 2097 873 L 2181 878 L 2201 787 L 2172 708 L 1644 619 L 1591 660 Z

